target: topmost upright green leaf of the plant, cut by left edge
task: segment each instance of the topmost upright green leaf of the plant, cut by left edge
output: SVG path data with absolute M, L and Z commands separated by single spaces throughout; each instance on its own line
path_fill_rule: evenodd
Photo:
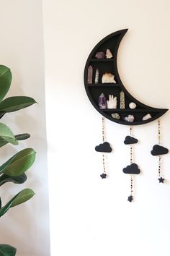
M 12 72 L 6 66 L 0 65 L 0 102 L 8 93 L 12 82 Z

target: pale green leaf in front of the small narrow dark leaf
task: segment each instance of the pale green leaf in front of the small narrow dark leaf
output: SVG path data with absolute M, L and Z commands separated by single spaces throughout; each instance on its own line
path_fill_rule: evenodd
M 13 145 L 18 145 L 16 138 L 14 137 L 12 130 L 6 126 L 6 124 L 0 123 L 0 138 L 6 142 L 10 142 Z

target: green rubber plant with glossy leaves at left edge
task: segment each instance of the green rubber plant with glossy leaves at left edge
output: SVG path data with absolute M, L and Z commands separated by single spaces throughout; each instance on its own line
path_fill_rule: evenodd
M 12 82 L 12 73 L 6 66 L 0 65 L 0 118 L 6 113 L 18 111 L 35 103 L 35 100 L 25 96 L 14 96 L 5 98 Z M 12 130 L 6 124 L 0 122 L 0 148 L 11 143 L 18 145 L 20 140 L 26 140 L 30 135 L 27 133 L 14 135 Z M 15 155 L 12 155 L 0 166 L 0 186 L 6 182 L 14 184 L 22 184 L 27 180 L 25 172 L 32 166 L 35 161 L 35 150 L 32 148 L 24 148 Z M 17 195 L 14 195 L 9 202 L 4 203 L 0 197 L 0 217 L 12 207 L 17 206 L 31 197 L 34 192 L 32 189 L 25 188 Z M 3 203 L 2 203 L 3 202 Z M 0 256 L 14 256 L 17 249 L 9 244 L 0 244 Z

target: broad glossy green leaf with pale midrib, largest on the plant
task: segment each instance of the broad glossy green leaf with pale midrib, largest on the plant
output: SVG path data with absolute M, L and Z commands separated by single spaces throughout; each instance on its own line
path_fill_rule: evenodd
M 19 153 L 9 158 L 8 161 L 0 166 L 0 174 L 8 176 L 19 176 L 24 174 L 28 168 L 32 166 L 35 161 L 35 150 L 32 148 L 25 148 Z

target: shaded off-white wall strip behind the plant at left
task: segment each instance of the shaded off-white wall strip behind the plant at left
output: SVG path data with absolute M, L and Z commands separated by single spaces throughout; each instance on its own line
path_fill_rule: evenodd
M 9 95 L 27 95 L 38 102 L 30 108 L 6 114 L 1 121 L 14 134 L 28 132 L 29 140 L 19 146 L 1 148 L 1 163 L 23 148 L 34 148 L 37 157 L 27 171 L 23 185 L 5 184 L 1 187 L 3 205 L 22 188 L 30 187 L 35 197 L 9 210 L 1 218 L 0 243 L 17 247 L 17 256 L 50 255 L 48 224 L 48 168 L 45 131 L 45 83 L 42 36 L 42 2 L 34 0 L 0 1 L 1 64 L 13 74 Z

